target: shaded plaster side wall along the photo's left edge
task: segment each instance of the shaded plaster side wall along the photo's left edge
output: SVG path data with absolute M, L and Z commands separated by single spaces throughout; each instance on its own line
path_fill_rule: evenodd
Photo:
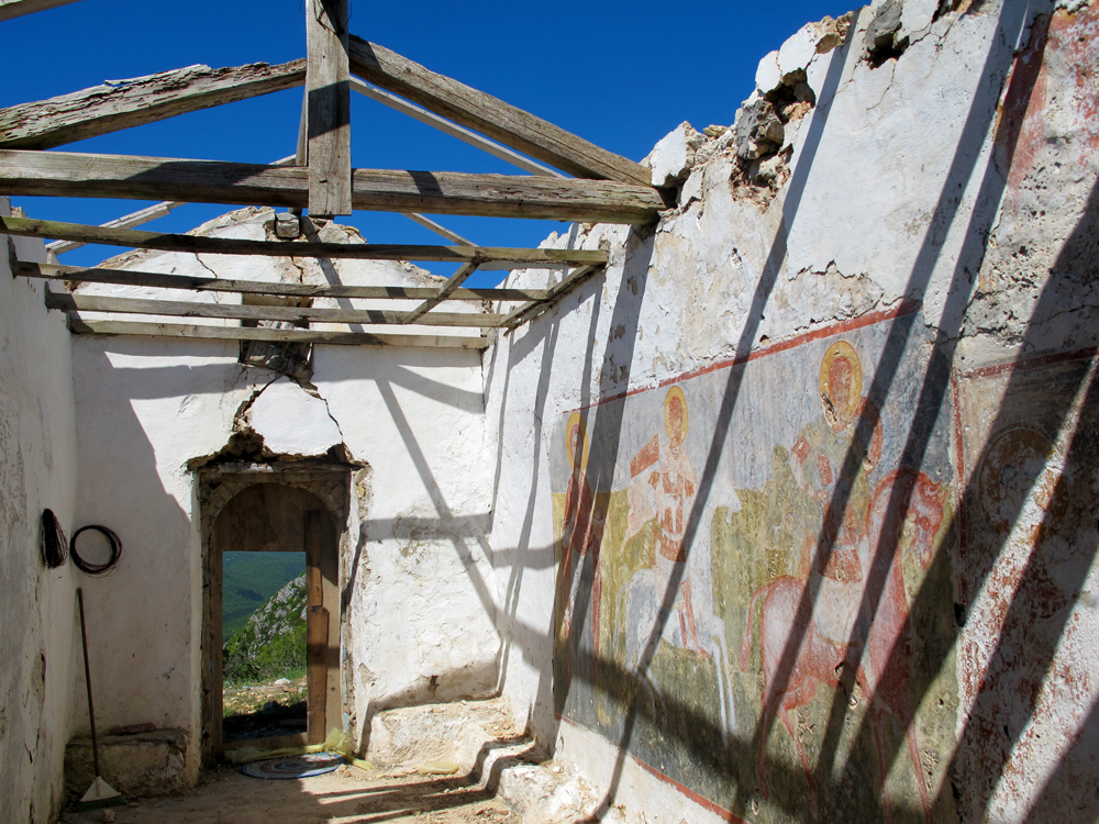
M 0 198 L 0 214 L 9 214 Z M 71 564 L 46 569 L 38 519 L 74 528 L 76 444 L 68 332 L 47 318 L 42 283 L 14 279 L 0 246 L 0 799 L 12 821 L 47 822 L 64 800 L 69 691 L 80 670 Z M 80 675 L 82 682 L 82 671 Z

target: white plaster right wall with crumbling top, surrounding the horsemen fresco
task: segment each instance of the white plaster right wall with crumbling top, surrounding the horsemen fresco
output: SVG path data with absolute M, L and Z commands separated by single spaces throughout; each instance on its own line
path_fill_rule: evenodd
M 1081 459 L 1079 453 L 1092 426 L 1087 365 L 1099 343 L 1092 300 L 1097 26 L 1094 3 L 923 0 L 876 1 L 841 19 L 842 44 L 843 37 L 831 34 L 836 21 L 811 24 L 761 63 L 759 88 L 741 113 L 730 113 L 734 127 L 697 132 L 685 124 L 657 146 L 650 157 L 654 183 L 674 188 L 678 205 L 654 229 L 578 225 L 548 238 L 555 247 L 609 242 L 611 263 L 556 309 L 501 337 L 488 356 L 503 694 L 517 716 L 533 719 L 533 730 L 543 743 L 552 742 L 558 758 L 579 766 L 599 787 L 613 787 L 603 799 L 604 820 L 678 824 L 732 814 L 785 821 L 818 803 L 826 816 L 826 810 L 842 811 L 851 802 L 831 787 L 807 795 L 791 748 L 793 794 L 787 793 L 787 806 L 774 791 L 770 801 L 761 793 L 754 770 L 743 779 L 736 776 L 744 771 L 732 770 L 730 813 L 659 780 L 659 764 L 654 770 L 624 756 L 618 739 L 555 717 L 560 512 L 554 495 L 563 489 L 552 486 L 551 467 L 563 416 L 587 409 L 589 433 L 599 432 L 613 448 L 631 437 L 629 423 L 615 420 L 617 404 L 598 405 L 602 401 L 753 352 L 784 352 L 875 312 L 915 319 L 899 339 L 904 357 L 921 366 L 890 378 L 886 358 L 877 371 L 867 364 L 864 391 L 872 379 L 886 394 L 922 381 L 923 394 L 913 396 L 903 424 L 906 443 L 919 443 L 921 432 L 933 430 L 950 444 L 937 469 L 921 468 L 959 479 L 945 514 L 962 508 L 969 523 L 967 544 L 959 546 L 956 533 L 940 538 L 953 565 L 950 583 L 940 587 L 940 600 L 946 600 L 940 614 L 953 626 L 947 636 L 954 652 L 929 673 L 947 693 L 956 692 L 956 710 L 947 701 L 936 722 L 953 730 L 954 742 L 925 747 L 921 756 L 928 801 L 914 782 L 890 779 L 893 814 L 973 822 L 1097 814 L 1099 670 L 1085 652 L 1099 642 L 1097 538 L 1079 515 L 1095 485 L 1086 469 L 1094 456 Z M 555 277 L 517 272 L 509 286 L 544 287 Z M 918 313 L 904 314 L 906 307 Z M 1030 377 L 1010 378 L 1002 365 L 1013 359 L 1019 374 Z M 1044 402 L 1043 381 L 1051 392 Z M 815 387 L 813 377 L 806 391 Z M 784 396 L 790 389 L 765 391 L 766 409 L 755 426 L 774 427 L 775 416 L 796 405 Z M 712 398 L 709 410 L 692 408 L 691 414 L 712 427 L 728 400 Z M 980 472 L 998 459 L 998 438 L 1020 427 L 1045 433 L 1035 437 L 1044 438 L 1052 469 L 1033 481 L 1032 503 L 1012 504 L 1021 508 L 1011 510 L 1021 525 L 1010 537 L 1006 527 L 981 533 L 984 527 L 973 526 L 987 506 Z M 1075 453 L 1074 432 L 1083 435 Z M 707 437 L 733 434 L 711 428 Z M 695 460 L 701 470 L 701 459 Z M 612 471 L 589 465 L 597 497 Z M 1077 486 L 1065 480 L 1069 492 L 1056 494 L 1069 502 L 1054 506 L 1058 477 L 1076 478 Z M 1052 526 L 1043 514 L 1051 508 L 1061 519 Z M 1077 515 L 1084 520 L 1066 525 Z M 1042 519 L 1047 531 L 1061 532 L 1042 545 L 1053 547 L 1050 559 L 1028 567 Z M 977 557 L 981 542 L 991 546 L 988 557 Z M 985 586 L 981 575 L 996 584 Z M 604 620 L 610 609 L 603 606 Z M 981 617 L 966 625 L 966 614 Z M 734 683 L 745 677 L 735 664 L 730 672 Z M 748 721 L 758 716 L 758 706 L 748 709 Z M 754 764 L 747 743 L 753 730 L 742 724 L 737 731 L 741 762 Z M 773 747 L 788 741 L 781 724 L 770 736 Z M 903 750 L 897 759 L 903 772 Z M 862 775 L 875 770 L 872 765 Z M 881 793 L 870 803 L 858 814 L 889 815 Z

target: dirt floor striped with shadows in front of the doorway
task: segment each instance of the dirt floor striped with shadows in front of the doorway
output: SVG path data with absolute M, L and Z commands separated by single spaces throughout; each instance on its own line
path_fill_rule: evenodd
M 343 766 L 298 780 L 260 780 L 223 767 L 186 795 L 62 815 L 63 824 L 312 824 L 417 822 L 519 824 L 520 817 L 469 776 L 401 769 L 371 775 Z

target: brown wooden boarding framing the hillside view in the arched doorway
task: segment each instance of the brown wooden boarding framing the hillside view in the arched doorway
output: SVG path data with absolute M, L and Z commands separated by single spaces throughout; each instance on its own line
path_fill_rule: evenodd
M 227 750 L 241 746 L 275 748 L 317 744 L 324 741 L 331 727 L 343 726 L 340 694 L 340 533 L 333 508 L 314 491 L 321 494 L 328 492 L 325 498 L 331 498 L 334 489 L 340 486 L 347 488 L 347 474 L 340 474 L 345 479 L 344 485 L 333 485 L 331 471 L 323 472 L 330 481 L 323 485 L 310 483 L 310 479 L 300 477 L 300 472 L 282 476 L 267 469 L 266 477 L 248 475 L 234 474 L 227 485 L 211 485 L 207 478 L 203 485 L 207 552 L 202 749 L 207 762 L 213 762 Z M 220 480 L 226 480 L 225 476 L 222 475 Z M 264 558 L 288 559 L 295 557 L 293 554 L 299 554 L 297 557 L 303 560 L 303 598 L 297 604 L 297 609 L 304 613 L 304 627 L 300 633 L 306 647 L 304 689 L 303 695 L 298 697 L 304 702 L 304 708 L 299 708 L 304 710 L 303 724 L 276 723 L 274 728 L 270 724 L 257 724 L 253 731 L 259 737 L 251 736 L 247 726 L 243 736 L 240 730 L 234 734 L 232 728 L 229 735 L 225 734 L 225 558 L 241 557 L 230 555 L 236 553 L 257 554 L 253 557 L 258 558 L 256 563 L 260 565 Z M 296 594 L 290 590 L 291 595 Z M 278 628 L 292 632 L 289 624 Z M 293 695 L 293 684 L 289 686 Z M 293 720 L 293 713 L 287 714 L 274 708 L 268 710 L 273 715 L 286 715 L 279 721 Z

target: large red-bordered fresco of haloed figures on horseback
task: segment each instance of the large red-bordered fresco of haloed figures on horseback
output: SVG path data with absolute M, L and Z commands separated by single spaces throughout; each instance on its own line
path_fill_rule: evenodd
M 898 314 L 555 432 L 557 712 L 725 817 L 951 812 L 930 801 L 957 705 L 951 416 L 900 464 L 926 346 L 889 344 Z

